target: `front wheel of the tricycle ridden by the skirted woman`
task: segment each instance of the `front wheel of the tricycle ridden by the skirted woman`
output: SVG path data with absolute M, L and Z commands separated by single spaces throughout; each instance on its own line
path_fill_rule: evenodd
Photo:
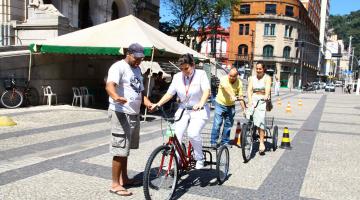
M 243 124 L 241 129 L 241 152 L 244 162 L 248 162 L 253 149 L 253 134 L 248 124 Z

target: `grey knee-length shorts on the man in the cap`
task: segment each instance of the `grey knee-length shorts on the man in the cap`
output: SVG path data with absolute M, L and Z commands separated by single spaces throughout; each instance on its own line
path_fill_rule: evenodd
M 111 124 L 110 154 L 127 157 L 130 149 L 139 148 L 140 115 L 109 110 Z

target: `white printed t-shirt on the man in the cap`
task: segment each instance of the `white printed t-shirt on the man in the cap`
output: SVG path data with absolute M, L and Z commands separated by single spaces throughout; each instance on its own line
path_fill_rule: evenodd
M 114 102 L 109 97 L 109 109 L 130 115 L 139 114 L 144 90 L 140 67 L 131 67 L 125 60 L 111 65 L 106 81 L 117 84 L 116 93 L 127 99 L 125 104 Z

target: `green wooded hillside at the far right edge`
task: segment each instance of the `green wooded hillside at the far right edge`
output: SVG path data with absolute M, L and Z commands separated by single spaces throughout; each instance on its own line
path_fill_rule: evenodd
M 345 46 L 349 45 L 350 35 L 353 36 L 352 46 L 355 47 L 355 56 L 360 58 L 360 10 L 349 15 L 331 15 L 329 26 L 340 39 L 344 40 Z

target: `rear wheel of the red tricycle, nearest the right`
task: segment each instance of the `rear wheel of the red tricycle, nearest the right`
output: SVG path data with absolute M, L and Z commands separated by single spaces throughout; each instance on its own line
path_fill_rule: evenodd
M 216 172 L 219 184 L 222 184 L 228 176 L 230 162 L 229 155 L 229 149 L 225 145 L 221 146 L 219 153 L 216 156 Z

